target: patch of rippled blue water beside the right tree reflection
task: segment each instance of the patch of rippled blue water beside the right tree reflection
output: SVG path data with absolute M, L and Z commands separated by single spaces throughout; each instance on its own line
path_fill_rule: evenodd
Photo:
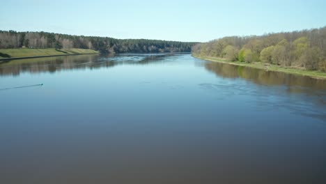
M 286 109 L 292 114 L 318 118 L 326 122 L 325 91 L 313 91 L 302 86 L 255 86 L 250 82 L 198 85 L 201 89 L 216 95 L 219 100 L 246 96 L 238 99 L 239 102 L 248 105 L 254 103 L 258 112 Z M 302 101 L 297 100 L 298 98 Z M 320 109 L 314 106 L 316 102 L 319 103 Z

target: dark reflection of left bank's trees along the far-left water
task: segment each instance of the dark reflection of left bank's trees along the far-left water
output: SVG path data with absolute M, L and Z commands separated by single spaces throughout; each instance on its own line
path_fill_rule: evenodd
M 152 54 L 140 55 L 141 59 L 136 61 L 115 61 L 114 56 L 98 56 L 98 55 L 77 55 L 77 56 L 54 56 L 36 59 L 12 60 L 0 63 L 0 75 L 20 75 L 21 72 L 57 72 L 60 70 L 82 70 L 109 68 L 123 64 L 148 64 L 154 61 L 160 61 L 171 54 Z M 121 56 L 130 57 L 131 54 Z

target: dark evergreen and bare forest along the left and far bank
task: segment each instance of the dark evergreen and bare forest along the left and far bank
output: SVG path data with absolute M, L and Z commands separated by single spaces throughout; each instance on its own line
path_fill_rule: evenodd
M 165 40 L 115 39 L 98 36 L 71 36 L 46 32 L 0 31 L 0 49 L 56 48 L 95 49 L 102 53 L 191 52 L 196 43 Z

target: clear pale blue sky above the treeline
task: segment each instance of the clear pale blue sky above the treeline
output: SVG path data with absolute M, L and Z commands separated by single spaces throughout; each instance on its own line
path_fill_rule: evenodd
M 208 41 L 326 26 L 325 0 L 2 1 L 0 30 Z

